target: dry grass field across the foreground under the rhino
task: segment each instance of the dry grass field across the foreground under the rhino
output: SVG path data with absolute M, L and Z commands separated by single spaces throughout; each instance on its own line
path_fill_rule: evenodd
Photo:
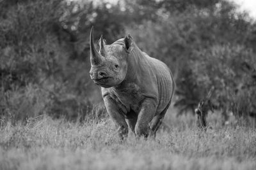
M 116 138 L 111 120 L 99 123 L 31 118 L 28 124 L 2 120 L 0 169 L 256 169 L 256 131 L 242 125 L 198 131 L 195 118 L 169 114 L 168 131 L 156 141 L 132 134 Z

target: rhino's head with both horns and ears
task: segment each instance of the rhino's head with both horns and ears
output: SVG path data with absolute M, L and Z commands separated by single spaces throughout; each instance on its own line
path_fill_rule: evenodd
M 124 81 L 127 74 L 127 55 L 131 39 L 122 45 L 106 45 L 102 36 L 99 40 L 99 52 L 93 43 L 93 27 L 90 33 L 90 76 L 101 87 L 113 87 Z M 128 47 L 128 48 L 127 48 Z

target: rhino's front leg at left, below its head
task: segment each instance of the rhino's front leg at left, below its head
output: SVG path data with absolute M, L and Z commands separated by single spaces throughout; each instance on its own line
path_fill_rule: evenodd
M 109 116 L 116 124 L 119 138 L 121 140 L 124 140 L 124 138 L 127 138 L 128 135 L 128 125 L 125 122 L 124 114 L 120 113 L 120 110 L 118 110 L 118 106 L 116 105 L 114 100 L 111 99 L 111 97 L 104 97 L 104 103 Z

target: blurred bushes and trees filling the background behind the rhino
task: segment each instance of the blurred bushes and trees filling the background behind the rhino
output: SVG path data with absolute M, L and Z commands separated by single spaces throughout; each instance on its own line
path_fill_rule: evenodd
M 106 112 L 88 74 L 89 32 L 128 33 L 173 72 L 177 115 L 214 86 L 223 115 L 256 115 L 256 24 L 225 0 L 0 1 L 0 117 L 83 120 Z

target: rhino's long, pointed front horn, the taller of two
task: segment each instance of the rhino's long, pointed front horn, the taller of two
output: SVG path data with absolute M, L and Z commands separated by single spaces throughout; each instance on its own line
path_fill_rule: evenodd
M 90 33 L 90 59 L 91 59 L 91 64 L 92 65 L 97 65 L 100 64 L 100 62 L 102 62 L 102 56 L 100 55 L 99 52 L 97 52 L 95 45 L 94 45 L 94 41 L 93 41 L 93 26 L 91 29 L 91 33 Z

